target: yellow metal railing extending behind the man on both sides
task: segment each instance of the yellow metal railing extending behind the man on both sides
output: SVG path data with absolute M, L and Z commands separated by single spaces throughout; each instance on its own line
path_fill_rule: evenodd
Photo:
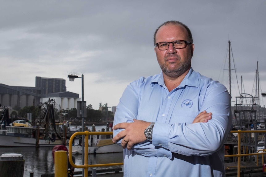
M 235 155 L 225 155 L 225 157 L 237 157 L 237 177 L 240 177 L 240 164 L 241 164 L 241 157 L 242 156 L 249 156 L 249 155 L 257 155 L 257 166 L 258 164 L 258 155 L 262 155 L 262 163 L 264 163 L 264 157 L 263 155 L 266 154 L 266 150 L 258 150 L 257 153 L 251 153 L 251 154 L 241 154 L 241 133 L 266 133 L 266 131 L 231 131 L 231 133 L 237 133 L 238 136 L 238 146 L 237 146 L 237 154 Z M 85 135 L 85 151 L 84 151 L 84 164 L 83 165 L 76 165 L 73 163 L 72 160 L 72 142 L 75 136 L 77 135 Z M 88 140 L 89 140 L 89 135 L 113 135 L 113 132 L 89 132 L 89 131 L 84 131 L 84 132 L 76 132 L 74 133 L 71 138 L 69 139 L 69 162 L 70 164 L 75 167 L 75 168 L 84 168 L 85 177 L 88 177 L 88 168 L 89 167 L 104 167 L 104 166 L 114 166 L 114 165 L 123 165 L 124 163 L 105 163 L 105 164 L 94 164 L 94 165 L 88 165 Z M 244 149 L 244 148 L 243 148 Z M 260 151 L 263 151 L 262 153 L 259 153 Z M 230 168 L 230 167 L 227 167 Z

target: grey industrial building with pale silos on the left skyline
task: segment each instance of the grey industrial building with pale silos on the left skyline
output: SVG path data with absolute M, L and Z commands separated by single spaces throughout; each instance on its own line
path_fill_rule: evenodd
M 61 109 L 77 108 L 79 94 L 66 91 L 65 79 L 35 77 L 35 87 L 0 83 L 0 104 L 6 107 L 38 106 L 54 99 Z

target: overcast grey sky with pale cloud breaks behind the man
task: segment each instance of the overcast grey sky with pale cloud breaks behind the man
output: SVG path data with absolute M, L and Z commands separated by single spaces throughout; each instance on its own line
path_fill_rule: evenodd
M 245 92 L 254 92 L 258 61 L 266 92 L 266 0 L 0 2 L 0 83 L 35 86 L 35 76 L 64 78 L 67 91 L 81 97 L 81 79 L 69 82 L 67 75 L 84 74 L 87 104 L 116 106 L 130 82 L 160 72 L 154 31 L 179 20 L 192 31 L 194 70 L 229 89 L 230 40 L 239 84 L 242 75 Z M 232 70 L 232 101 L 239 96 L 234 83 Z

